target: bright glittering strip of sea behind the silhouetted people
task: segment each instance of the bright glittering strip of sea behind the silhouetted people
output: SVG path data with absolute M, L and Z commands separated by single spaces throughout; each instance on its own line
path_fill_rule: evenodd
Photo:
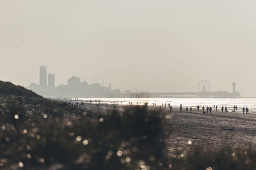
M 228 108 L 238 108 L 248 107 L 250 111 L 256 111 L 256 98 L 236 98 L 236 99 L 219 99 L 219 98 L 81 98 L 81 101 L 86 101 L 92 103 L 104 103 L 104 104 L 137 104 L 143 105 L 148 103 L 152 106 L 156 103 L 158 106 L 161 104 L 170 103 L 173 107 L 178 107 L 180 104 L 182 106 L 227 106 Z M 122 103 L 121 103 L 122 102 Z

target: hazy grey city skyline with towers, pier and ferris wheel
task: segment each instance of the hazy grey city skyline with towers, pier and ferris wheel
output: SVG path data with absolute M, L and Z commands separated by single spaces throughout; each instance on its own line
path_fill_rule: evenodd
M 48 78 L 48 80 L 47 80 Z M 104 87 L 100 83 L 91 83 L 81 81 L 81 78 L 72 76 L 67 79 L 67 85 L 57 85 L 55 87 L 55 74 L 48 74 L 47 67 L 40 66 L 39 84 L 31 83 L 27 88 L 44 97 L 241 97 L 236 91 L 236 82 L 231 83 L 232 91 L 219 90 L 211 91 L 211 83 L 207 80 L 201 80 L 198 83 L 198 91 L 194 92 L 131 92 L 129 90 L 111 89 Z

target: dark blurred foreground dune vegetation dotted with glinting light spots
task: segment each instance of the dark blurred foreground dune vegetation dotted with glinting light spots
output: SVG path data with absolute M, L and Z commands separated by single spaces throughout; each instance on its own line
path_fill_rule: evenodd
M 1 96 L 0 169 L 256 169 L 252 147 L 191 145 L 169 154 L 168 118 L 147 106 L 92 112 L 42 97 Z

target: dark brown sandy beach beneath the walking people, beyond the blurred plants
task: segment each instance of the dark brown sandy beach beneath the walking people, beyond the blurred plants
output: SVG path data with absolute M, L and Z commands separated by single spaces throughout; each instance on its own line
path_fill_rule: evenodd
M 88 110 L 108 110 L 111 108 L 124 109 L 125 106 L 110 104 L 87 104 Z M 157 109 L 149 106 L 149 109 Z M 168 108 L 162 110 L 168 113 L 174 124 L 170 138 L 167 139 L 170 152 L 177 148 L 189 148 L 191 145 L 205 145 L 212 147 L 223 144 L 233 147 L 246 147 L 256 144 L 256 114 L 243 114 L 241 111 L 221 113 L 213 111 L 211 114 L 203 114 L 194 111 L 192 113 L 179 113 L 179 108 L 173 108 L 172 113 Z M 189 145 L 188 141 L 191 141 Z

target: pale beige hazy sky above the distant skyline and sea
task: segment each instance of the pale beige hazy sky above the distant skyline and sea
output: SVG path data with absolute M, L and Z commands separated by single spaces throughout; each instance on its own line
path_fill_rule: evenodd
M 255 0 L 1 0 L 0 80 L 256 96 Z

